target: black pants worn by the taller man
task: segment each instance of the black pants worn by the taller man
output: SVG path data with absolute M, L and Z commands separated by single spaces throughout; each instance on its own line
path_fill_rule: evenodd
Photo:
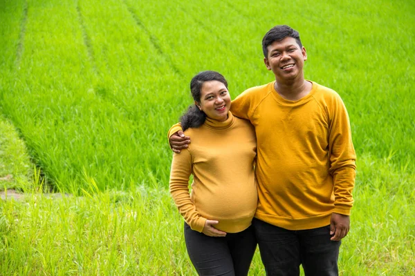
M 300 264 L 307 276 L 338 275 L 340 242 L 330 240 L 330 226 L 286 230 L 259 219 L 252 225 L 266 275 L 298 276 Z

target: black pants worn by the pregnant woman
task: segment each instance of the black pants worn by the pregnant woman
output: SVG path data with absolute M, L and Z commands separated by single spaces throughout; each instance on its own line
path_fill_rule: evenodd
M 209 237 L 185 223 L 187 253 L 199 275 L 248 275 L 257 248 L 252 225 L 226 237 Z

